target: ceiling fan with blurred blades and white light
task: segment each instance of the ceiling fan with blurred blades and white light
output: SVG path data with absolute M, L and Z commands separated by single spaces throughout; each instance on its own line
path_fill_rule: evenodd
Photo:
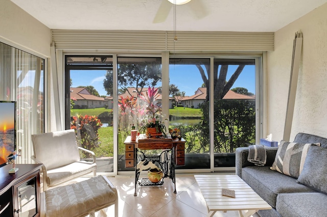
M 191 8 L 197 19 L 201 19 L 207 15 L 202 0 L 162 0 L 157 14 L 153 19 L 153 23 L 165 22 L 174 4 L 184 5 L 186 3 L 186 6 Z

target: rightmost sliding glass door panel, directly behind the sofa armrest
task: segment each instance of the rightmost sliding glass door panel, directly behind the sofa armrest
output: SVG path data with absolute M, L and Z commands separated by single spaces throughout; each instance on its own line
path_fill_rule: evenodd
M 235 149 L 255 143 L 255 60 L 214 59 L 213 74 L 214 166 L 234 167 Z

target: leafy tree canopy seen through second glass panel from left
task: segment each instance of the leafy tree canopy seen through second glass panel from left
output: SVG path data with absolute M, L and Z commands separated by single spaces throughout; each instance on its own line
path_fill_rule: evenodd
M 119 89 L 127 91 L 128 87 L 135 87 L 137 94 L 141 94 L 144 87 L 155 87 L 161 80 L 161 68 L 159 64 L 148 62 L 137 64 L 120 64 L 118 68 Z M 107 71 L 106 78 L 103 80 L 104 89 L 108 95 L 113 93 L 113 73 Z

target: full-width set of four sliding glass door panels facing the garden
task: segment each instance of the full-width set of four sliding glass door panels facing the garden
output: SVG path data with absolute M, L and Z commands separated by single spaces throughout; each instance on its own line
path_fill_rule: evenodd
M 185 166 L 176 169 L 235 167 L 235 149 L 258 137 L 260 58 L 174 56 L 163 63 L 161 57 L 137 55 L 65 57 L 66 128 L 80 128 L 81 145 L 96 153 L 100 172 L 113 172 L 114 165 L 116 171 L 134 170 L 125 167 L 124 141 L 139 128 L 145 115 L 140 96 L 149 87 L 169 111 L 169 129 L 186 141 Z M 165 81 L 163 64 L 169 65 Z M 86 129 L 91 124 L 93 134 Z

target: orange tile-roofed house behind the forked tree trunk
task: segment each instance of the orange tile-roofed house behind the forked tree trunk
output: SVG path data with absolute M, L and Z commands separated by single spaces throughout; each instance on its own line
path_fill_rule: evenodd
M 255 100 L 255 96 L 249 96 L 244 94 L 236 93 L 232 90 L 229 90 L 223 99 L 248 99 Z M 206 100 L 206 88 L 198 88 L 192 96 L 184 96 L 180 101 L 185 107 L 199 108 L 199 104 L 203 103 Z

